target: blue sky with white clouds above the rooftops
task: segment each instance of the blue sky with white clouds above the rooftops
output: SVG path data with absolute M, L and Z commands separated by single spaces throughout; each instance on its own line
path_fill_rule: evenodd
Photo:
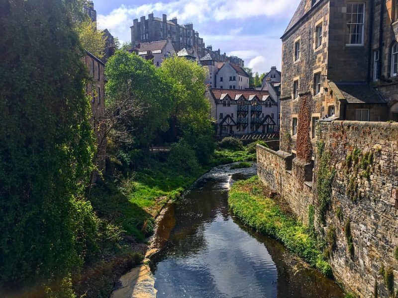
M 281 70 L 284 33 L 300 0 L 94 0 L 100 29 L 130 42 L 133 19 L 155 17 L 192 22 L 205 45 L 238 56 L 254 72 Z

